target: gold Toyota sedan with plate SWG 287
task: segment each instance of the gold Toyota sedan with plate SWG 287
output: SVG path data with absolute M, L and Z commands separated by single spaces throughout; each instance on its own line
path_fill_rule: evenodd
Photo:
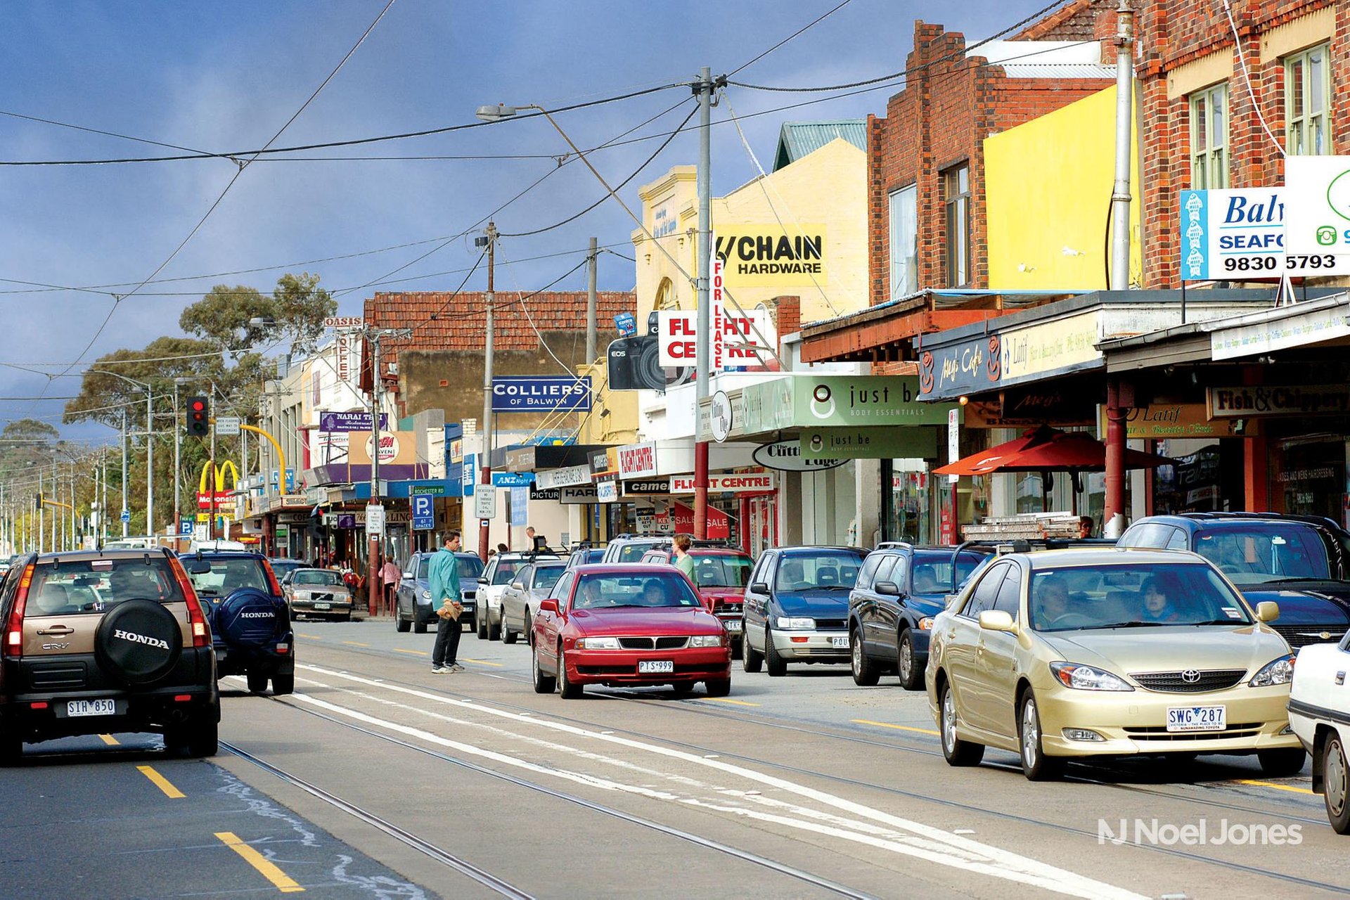
M 929 707 L 942 756 L 1013 750 L 1033 781 L 1073 757 L 1304 753 L 1289 729 L 1289 645 L 1204 557 L 1115 548 L 1010 553 L 933 622 Z

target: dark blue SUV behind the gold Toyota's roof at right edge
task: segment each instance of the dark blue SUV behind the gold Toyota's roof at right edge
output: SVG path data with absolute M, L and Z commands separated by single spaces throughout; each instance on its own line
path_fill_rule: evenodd
M 1181 513 L 1138 519 L 1116 546 L 1192 551 L 1219 567 L 1254 607 L 1280 606 L 1270 627 L 1295 649 L 1335 644 L 1350 627 L 1350 533 L 1330 518 L 1280 513 Z

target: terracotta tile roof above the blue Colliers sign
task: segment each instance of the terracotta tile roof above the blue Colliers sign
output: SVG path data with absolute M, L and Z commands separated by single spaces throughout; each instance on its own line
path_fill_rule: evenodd
M 486 309 L 483 291 L 459 296 L 450 291 L 377 293 L 366 300 L 364 317 L 370 328 L 414 329 L 412 337 L 386 337 L 381 341 L 382 359 L 394 363 L 398 360 L 398 351 L 405 347 L 418 351 L 481 351 Z M 633 291 L 598 291 L 597 318 L 601 333 L 609 333 L 614 316 L 636 309 L 637 294 Z M 531 328 L 531 320 L 535 328 L 545 333 L 586 333 L 586 291 L 526 291 L 521 302 L 516 291 L 500 290 L 494 317 L 495 349 L 536 349 L 539 337 Z M 362 358 L 369 356 L 363 352 Z M 370 370 L 363 368 L 362 383 L 369 387 Z

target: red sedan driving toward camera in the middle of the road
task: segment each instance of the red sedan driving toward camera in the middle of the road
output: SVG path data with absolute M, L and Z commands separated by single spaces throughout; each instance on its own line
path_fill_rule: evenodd
M 540 602 L 531 629 L 535 691 L 578 698 L 586 684 L 668 684 L 709 696 L 732 690 L 722 623 L 670 565 L 568 569 Z

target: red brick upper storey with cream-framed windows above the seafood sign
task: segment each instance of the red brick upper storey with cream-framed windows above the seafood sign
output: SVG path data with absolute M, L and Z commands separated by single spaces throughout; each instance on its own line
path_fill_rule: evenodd
M 1143 283 L 1177 287 L 1181 190 L 1282 184 L 1281 147 L 1350 154 L 1350 3 L 1231 0 L 1233 23 L 1223 0 L 1135 5 Z

